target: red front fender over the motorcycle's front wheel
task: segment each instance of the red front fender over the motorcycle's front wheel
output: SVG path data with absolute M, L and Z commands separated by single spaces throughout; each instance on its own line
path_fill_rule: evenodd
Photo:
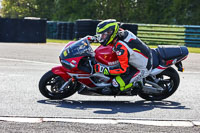
M 70 78 L 70 75 L 66 72 L 65 69 L 66 68 L 64 68 L 63 66 L 57 66 L 57 67 L 52 68 L 51 71 L 54 74 L 62 77 L 65 81 L 67 81 Z

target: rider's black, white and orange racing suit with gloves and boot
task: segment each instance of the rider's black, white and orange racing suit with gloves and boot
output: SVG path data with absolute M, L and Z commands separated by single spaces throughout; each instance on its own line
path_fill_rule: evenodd
M 120 31 L 113 51 L 116 53 L 119 67 L 94 66 L 96 72 L 104 75 L 116 75 L 112 80 L 112 86 L 121 91 L 126 90 L 138 81 L 147 77 L 152 69 L 152 54 L 150 48 L 128 30 Z

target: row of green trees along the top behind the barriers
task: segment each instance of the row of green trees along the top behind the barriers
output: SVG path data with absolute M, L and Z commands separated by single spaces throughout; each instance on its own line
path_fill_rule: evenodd
M 2 17 L 200 25 L 200 0 L 2 0 Z

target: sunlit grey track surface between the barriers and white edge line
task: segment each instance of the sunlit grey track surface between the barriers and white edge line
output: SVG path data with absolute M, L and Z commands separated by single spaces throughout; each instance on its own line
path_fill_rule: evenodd
M 200 120 L 200 54 L 183 62 L 180 86 L 163 101 L 135 97 L 94 97 L 75 94 L 48 100 L 38 90 L 40 77 L 59 65 L 64 45 L 0 43 L 0 114 L 17 117 Z

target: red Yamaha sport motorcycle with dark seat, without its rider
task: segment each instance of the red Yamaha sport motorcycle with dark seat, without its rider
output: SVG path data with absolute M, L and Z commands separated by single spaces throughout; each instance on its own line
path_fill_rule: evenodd
M 62 65 L 45 73 L 39 81 L 39 90 L 49 99 L 64 99 L 76 92 L 93 96 L 136 96 L 146 100 L 163 100 L 171 96 L 178 88 L 183 72 L 182 61 L 189 52 L 185 46 L 163 46 L 151 49 L 153 68 L 150 75 L 143 79 L 142 86 L 132 86 L 120 93 L 105 94 L 104 89 L 111 88 L 113 76 L 95 73 L 95 62 L 117 66 L 117 55 L 111 46 L 99 46 L 92 49 L 87 37 L 66 44 L 59 56 Z

